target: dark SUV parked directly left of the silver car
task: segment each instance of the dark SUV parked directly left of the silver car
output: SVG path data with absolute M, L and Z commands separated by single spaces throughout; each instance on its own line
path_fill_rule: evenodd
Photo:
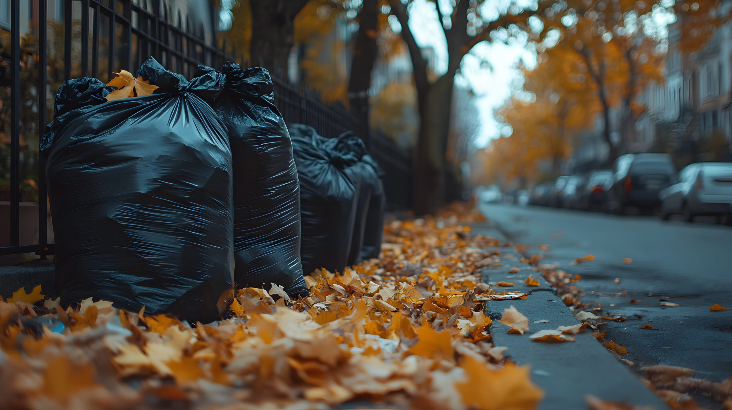
M 613 164 L 608 210 L 625 213 L 635 207 L 648 212 L 660 207 L 658 193 L 676 183 L 676 167 L 668 153 L 626 153 Z

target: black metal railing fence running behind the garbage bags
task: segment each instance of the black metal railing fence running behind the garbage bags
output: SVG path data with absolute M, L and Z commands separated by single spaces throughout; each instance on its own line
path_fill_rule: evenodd
M 2 16 L 10 16 L 9 21 Z M 0 0 L 0 29 L 0 210 L 7 212 L 0 221 L 0 257 L 53 254 L 38 142 L 53 118 L 53 95 L 63 80 L 106 82 L 113 72 L 132 71 L 148 56 L 187 77 L 199 63 L 220 67 L 236 59 L 214 47 L 214 30 L 173 11 L 170 0 Z M 326 137 L 367 130 L 343 107 L 328 107 L 281 80 L 275 80 L 275 92 L 288 122 L 308 124 Z M 386 171 L 389 208 L 408 208 L 411 155 L 381 134 L 366 135 Z M 37 226 L 37 234 L 21 235 L 28 230 L 21 224 Z

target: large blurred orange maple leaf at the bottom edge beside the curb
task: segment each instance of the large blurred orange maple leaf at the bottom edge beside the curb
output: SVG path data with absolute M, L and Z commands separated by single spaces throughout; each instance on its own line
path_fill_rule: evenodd
M 466 407 L 480 410 L 535 409 L 544 392 L 531 383 L 528 367 L 507 363 L 501 370 L 492 370 L 471 356 L 460 367 L 466 381 L 455 383 Z

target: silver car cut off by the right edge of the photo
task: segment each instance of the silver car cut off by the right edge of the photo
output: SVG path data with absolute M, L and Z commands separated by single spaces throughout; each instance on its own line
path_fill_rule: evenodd
M 680 214 L 684 221 L 698 215 L 732 214 L 732 163 L 698 162 L 679 172 L 679 183 L 660 192 L 661 219 Z

